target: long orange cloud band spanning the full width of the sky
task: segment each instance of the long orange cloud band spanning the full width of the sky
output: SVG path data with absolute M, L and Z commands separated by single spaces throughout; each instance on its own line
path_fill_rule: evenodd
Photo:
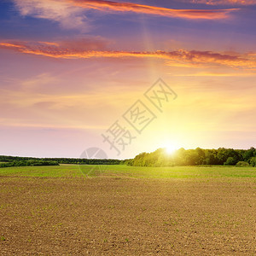
M 24 54 L 44 55 L 51 58 L 61 59 L 89 59 L 89 58 L 155 58 L 166 61 L 166 65 L 173 67 L 193 67 L 193 66 L 215 66 L 224 65 L 227 67 L 243 67 L 255 68 L 256 55 L 235 54 L 235 53 L 217 53 L 212 51 L 186 50 L 179 49 L 174 51 L 119 51 L 99 49 L 99 44 L 96 42 L 96 47 L 93 47 L 93 42 L 90 41 L 86 46 L 84 40 L 83 48 L 75 48 L 74 43 L 0 43 L 0 47 L 4 49 L 12 49 Z

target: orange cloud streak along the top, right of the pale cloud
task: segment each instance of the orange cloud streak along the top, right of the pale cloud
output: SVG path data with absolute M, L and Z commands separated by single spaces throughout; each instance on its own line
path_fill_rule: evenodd
M 165 17 L 179 17 L 186 19 L 223 19 L 236 9 L 167 9 L 137 3 L 116 3 L 105 0 L 67 0 L 75 6 L 84 9 L 96 9 L 100 11 L 134 12 L 146 15 L 160 15 Z

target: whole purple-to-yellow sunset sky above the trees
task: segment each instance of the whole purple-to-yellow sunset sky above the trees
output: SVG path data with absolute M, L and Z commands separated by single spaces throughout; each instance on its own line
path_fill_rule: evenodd
M 256 0 L 2 0 L 0 154 L 255 146 L 255 24 Z

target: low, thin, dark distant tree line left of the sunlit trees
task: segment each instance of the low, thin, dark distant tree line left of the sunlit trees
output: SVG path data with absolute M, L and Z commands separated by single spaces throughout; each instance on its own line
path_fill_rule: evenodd
M 119 165 L 122 160 L 112 159 L 80 159 L 80 158 L 34 158 L 0 155 L 0 167 L 12 166 L 59 166 L 60 164 L 75 165 Z

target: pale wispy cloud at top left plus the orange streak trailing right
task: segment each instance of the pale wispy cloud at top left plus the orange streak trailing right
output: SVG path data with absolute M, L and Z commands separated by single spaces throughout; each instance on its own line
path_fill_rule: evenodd
M 137 3 L 118 3 L 105 0 L 13 0 L 21 15 L 59 22 L 64 28 L 90 27 L 87 10 L 104 13 L 137 13 L 183 19 L 224 19 L 236 9 L 168 9 Z M 200 0 L 202 1 L 202 0 Z

